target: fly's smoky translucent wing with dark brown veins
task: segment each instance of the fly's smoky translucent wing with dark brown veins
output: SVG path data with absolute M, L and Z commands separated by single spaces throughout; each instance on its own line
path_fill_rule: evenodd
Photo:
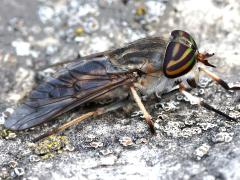
M 103 57 L 74 63 L 33 90 L 6 120 L 5 127 L 31 128 L 131 82 L 126 74 L 109 74 L 109 66 Z

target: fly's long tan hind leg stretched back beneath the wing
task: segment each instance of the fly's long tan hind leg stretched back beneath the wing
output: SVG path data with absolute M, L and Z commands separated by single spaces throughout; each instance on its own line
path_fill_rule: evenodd
M 100 108 L 97 108 L 95 111 L 91 111 L 91 112 L 88 112 L 88 113 L 85 113 L 69 122 L 66 122 L 65 124 L 53 129 L 53 130 L 50 130 L 40 136 L 38 136 L 37 138 L 33 139 L 32 142 L 37 142 L 43 138 L 46 138 L 48 136 L 51 136 L 53 134 L 56 134 L 56 133 L 59 133 L 61 131 L 64 131 L 65 129 L 71 127 L 71 126 L 74 126 L 74 125 L 77 125 L 79 124 L 80 122 L 86 120 L 87 118 L 89 117 L 93 117 L 93 116 L 99 116 L 99 115 L 102 115 L 102 114 L 105 114 L 107 112 L 110 112 L 110 111 L 114 111 L 116 109 L 119 109 L 121 107 L 124 107 L 128 104 L 129 102 L 127 100 L 122 100 L 122 101 L 119 101 L 119 102 L 116 102 L 116 103 L 112 103 L 112 104 L 109 104 L 109 105 L 106 105 L 104 107 L 100 107 Z

